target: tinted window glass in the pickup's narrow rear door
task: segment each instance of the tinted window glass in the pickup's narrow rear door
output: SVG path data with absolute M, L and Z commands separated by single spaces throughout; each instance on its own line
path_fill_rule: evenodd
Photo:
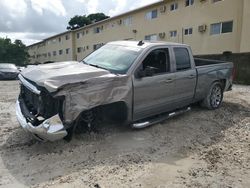
M 183 71 L 191 68 L 189 52 L 186 48 L 174 48 L 176 70 Z

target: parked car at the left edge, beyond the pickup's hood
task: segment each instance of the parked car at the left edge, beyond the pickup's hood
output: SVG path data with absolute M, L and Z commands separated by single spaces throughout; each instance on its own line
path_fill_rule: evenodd
M 0 80 L 15 80 L 19 70 L 14 64 L 0 63 Z

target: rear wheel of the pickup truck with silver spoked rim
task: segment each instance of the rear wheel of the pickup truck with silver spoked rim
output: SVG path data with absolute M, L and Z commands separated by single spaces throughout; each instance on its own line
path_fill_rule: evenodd
M 220 108 L 223 101 L 223 89 L 219 82 L 215 82 L 211 85 L 209 92 L 205 99 L 203 99 L 201 105 L 209 110 L 215 110 Z

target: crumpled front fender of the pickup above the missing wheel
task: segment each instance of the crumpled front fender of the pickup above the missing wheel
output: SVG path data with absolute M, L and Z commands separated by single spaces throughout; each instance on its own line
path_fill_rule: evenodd
M 64 122 L 72 123 L 83 111 L 114 102 L 132 103 L 132 81 L 127 75 L 108 74 L 59 88 L 65 97 Z

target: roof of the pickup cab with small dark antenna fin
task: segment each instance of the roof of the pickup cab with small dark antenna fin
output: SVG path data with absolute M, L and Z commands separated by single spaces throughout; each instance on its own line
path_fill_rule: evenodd
M 140 45 L 140 42 L 143 42 L 143 44 Z M 129 47 L 139 47 L 139 48 L 147 48 L 149 46 L 159 46 L 159 45 L 167 45 L 167 46 L 185 46 L 186 44 L 180 44 L 180 43 L 174 43 L 174 42 L 164 42 L 164 41 L 115 41 L 115 42 L 109 42 L 108 44 L 116 44 L 116 45 L 122 45 L 122 46 L 129 46 Z

